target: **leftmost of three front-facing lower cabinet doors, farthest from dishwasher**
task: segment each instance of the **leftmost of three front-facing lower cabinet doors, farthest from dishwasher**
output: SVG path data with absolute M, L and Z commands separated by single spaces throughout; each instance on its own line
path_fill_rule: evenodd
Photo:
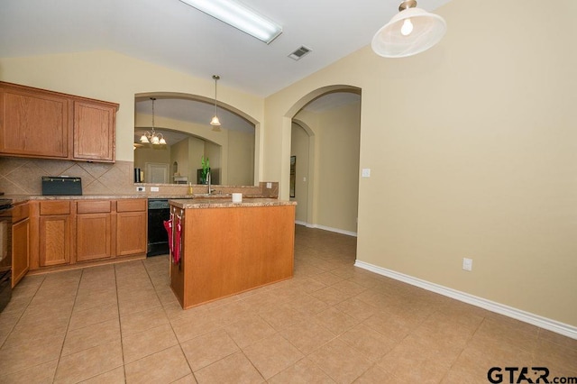
M 69 264 L 70 216 L 40 216 L 40 266 Z

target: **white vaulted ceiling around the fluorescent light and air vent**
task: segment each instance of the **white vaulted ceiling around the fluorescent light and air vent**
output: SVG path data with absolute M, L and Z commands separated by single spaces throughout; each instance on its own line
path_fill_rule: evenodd
M 208 1 L 208 0 L 207 0 Z M 419 0 L 433 11 L 450 0 Z M 269 45 L 179 0 L 0 0 L 0 56 L 115 50 L 269 96 L 371 43 L 400 0 L 242 0 L 279 23 Z M 312 51 L 295 61 L 288 55 Z

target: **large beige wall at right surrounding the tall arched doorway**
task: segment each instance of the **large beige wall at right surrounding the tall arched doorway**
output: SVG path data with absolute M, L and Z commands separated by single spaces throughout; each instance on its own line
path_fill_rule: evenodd
M 358 259 L 577 325 L 576 11 L 453 1 L 432 50 L 366 47 L 268 97 L 265 178 L 287 197 L 294 105 L 361 87 Z

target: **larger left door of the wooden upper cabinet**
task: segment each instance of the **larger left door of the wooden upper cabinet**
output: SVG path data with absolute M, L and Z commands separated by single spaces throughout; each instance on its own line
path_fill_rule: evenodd
M 0 154 L 67 158 L 69 99 L 0 87 Z

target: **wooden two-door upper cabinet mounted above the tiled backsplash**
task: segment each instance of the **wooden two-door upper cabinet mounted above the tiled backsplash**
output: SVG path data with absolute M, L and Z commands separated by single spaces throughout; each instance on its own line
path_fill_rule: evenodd
M 117 110 L 114 103 L 0 81 L 0 155 L 114 162 Z

